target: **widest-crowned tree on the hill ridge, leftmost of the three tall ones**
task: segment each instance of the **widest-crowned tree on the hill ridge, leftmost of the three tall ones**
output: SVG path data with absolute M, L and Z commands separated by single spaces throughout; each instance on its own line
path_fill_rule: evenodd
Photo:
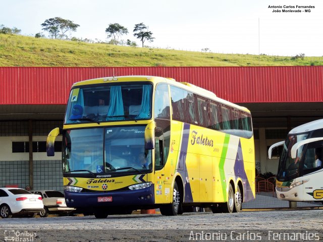
M 46 19 L 45 22 L 41 24 L 41 26 L 43 27 L 42 30 L 47 31 L 51 38 L 62 39 L 64 37 L 67 38 L 66 33 L 68 31 L 75 32 L 80 25 L 75 24 L 73 23 L 73 21 L 68 19 L 55 17 Z

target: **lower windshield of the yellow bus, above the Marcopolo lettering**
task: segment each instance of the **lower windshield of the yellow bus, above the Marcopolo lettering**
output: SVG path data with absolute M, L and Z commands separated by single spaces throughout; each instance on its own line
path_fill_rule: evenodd
M 144 149 L 145 126 L 66 130 L 64 173 L 138 172 L 152 168 Z

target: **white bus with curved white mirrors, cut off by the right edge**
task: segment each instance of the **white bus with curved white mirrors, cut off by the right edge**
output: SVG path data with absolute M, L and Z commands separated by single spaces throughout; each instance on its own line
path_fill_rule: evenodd
M 283 145 L 276 180 L 277 197 L 287 201 L 323 203 L 323 119 L 298 126 L 287 135 Z

